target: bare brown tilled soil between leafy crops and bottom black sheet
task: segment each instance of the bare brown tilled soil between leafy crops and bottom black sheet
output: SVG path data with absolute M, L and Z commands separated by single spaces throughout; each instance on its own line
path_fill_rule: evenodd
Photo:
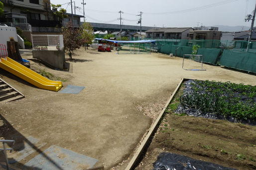
M 179 95 L 172 103 L 177 101 Z M 162 152 L 238 170 L 255 170 L 255 139 L 256 126 L 253 125 L 167 113 L 136 170 L 152 170 Z

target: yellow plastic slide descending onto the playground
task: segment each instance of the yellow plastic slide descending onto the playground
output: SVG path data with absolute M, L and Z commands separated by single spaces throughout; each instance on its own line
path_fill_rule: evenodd
M 21 65 L 13 59 L 6 57 L 7 59 L 1 58 L 0 68 L 18 76 L 19 78 L 33 84 L 34 86 L 57 92 L 62 87 L 61 81 L 52 81 L 44 76 L 32 71 L 31 69 Z

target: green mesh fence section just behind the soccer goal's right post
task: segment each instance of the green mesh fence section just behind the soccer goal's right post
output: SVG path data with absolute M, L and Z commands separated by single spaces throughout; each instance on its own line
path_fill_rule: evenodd
M 197 55 L 203 55 L 203 62 L 217 64 L 217 61 L 220 57 L 221 49 L 206 49 L 199 48 Z

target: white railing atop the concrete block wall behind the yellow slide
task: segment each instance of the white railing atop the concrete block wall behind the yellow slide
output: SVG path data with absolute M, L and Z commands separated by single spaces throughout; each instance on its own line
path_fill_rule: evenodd
M 48 46 L 55 46 L 57 49 L 62 50 L 63 35 L 31 35 L 33 49 L 47 49 Z

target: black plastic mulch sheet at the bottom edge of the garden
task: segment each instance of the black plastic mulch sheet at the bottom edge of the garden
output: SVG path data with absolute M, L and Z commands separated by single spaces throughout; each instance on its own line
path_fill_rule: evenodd
M 153 170 L 235 170 L 172 153 L 161 153 L 153 166 Z

